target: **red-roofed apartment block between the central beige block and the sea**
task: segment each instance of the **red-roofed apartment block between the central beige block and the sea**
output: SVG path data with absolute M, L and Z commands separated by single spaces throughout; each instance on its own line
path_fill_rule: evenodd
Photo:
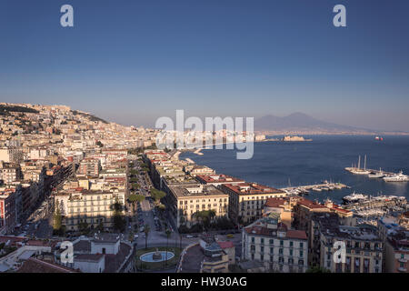
M 282 190 L 256 183 L 224 184 L 220 189 L 229 196 L 229 217 L 240 224 L 261 218 L 268 198 L 286 196 Z

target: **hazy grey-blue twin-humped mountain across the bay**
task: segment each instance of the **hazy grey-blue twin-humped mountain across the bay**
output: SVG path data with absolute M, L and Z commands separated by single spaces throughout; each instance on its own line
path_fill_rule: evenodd
M 292 115 L 278 117 L 265 115 L 254 120 L 254 130 L 288 133 L 372 133 L 373 130 L 346 125 L 337 125 L 315 119 L 304 113 L 296 112 Z

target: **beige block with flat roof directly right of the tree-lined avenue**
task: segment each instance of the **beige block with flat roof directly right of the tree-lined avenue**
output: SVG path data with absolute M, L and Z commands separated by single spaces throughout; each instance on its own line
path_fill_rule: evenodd
M 188 184 L 169 186 L 167 203 L 176 226 L 195 224 L 195 213 L 214 210 L 216 217 L 228 216 L 229 196 L 214 186 Z

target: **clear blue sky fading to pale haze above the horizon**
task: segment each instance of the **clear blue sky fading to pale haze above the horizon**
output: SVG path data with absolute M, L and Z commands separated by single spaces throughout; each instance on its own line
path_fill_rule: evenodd
M 75 27 L 60 25 L 73 5 Z M 333 25 L 346 6 L 347 27 Z M 407 0 L 2 0 L 0 101 L 409 130 Z

